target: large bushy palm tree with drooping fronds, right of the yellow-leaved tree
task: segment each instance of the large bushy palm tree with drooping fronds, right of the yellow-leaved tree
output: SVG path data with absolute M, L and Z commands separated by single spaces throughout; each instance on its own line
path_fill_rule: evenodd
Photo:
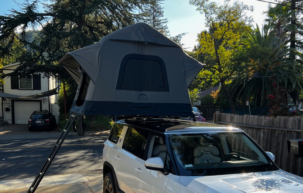
M 295 74 L 301 74 L 303 67 L 289 57 L 290 52 L 299 54 L 289 48 L 291 39 L 284 37 L 285 34 L 277 36 L 269 25 L 264 25 L 262 31 L 257 25 L 234 46 L 237 49 L 232 59 L 234 68 L 240 69 L 238 76 L 245 77 L 228 85 L 234 99 L 242 104 L 250 100 L 256 106 L 264 106 L 273 87 L 279 86 L 287 90 L 295 103 L 299 100 L 303 79 Z M 275 83 L 268 78 L 271 76 L 276 77 Z

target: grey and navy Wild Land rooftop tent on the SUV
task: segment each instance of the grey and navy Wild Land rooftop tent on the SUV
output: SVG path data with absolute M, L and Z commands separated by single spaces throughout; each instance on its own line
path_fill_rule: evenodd
M 60 64 L 78 83 L 78 115 L 194 116 L 188 86 L 204 67 L 145 23 L 67 53 Z

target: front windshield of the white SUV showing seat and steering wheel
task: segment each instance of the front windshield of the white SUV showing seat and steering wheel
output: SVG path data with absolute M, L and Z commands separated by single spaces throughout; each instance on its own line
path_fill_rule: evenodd
M 182 176 L 224 175 L 277 170 L 266 153 L 243 132 L 169 134 Z

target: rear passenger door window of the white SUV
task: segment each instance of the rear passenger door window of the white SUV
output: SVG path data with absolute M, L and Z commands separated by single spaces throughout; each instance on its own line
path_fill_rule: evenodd
M 142 129 L 128 127 L 122 148 L 144 159 L 148 132 Z

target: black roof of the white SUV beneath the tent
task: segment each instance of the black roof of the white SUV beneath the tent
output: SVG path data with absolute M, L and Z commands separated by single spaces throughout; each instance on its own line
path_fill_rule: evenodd
M 221 131 L 242 131 L 236 127 L 229 127 L 213 123 L 195 122 L 175 119 L 144 119 L 144 120 L 120 120 L 118 123 L 137 126 L 156 132 L 221 132 Z

